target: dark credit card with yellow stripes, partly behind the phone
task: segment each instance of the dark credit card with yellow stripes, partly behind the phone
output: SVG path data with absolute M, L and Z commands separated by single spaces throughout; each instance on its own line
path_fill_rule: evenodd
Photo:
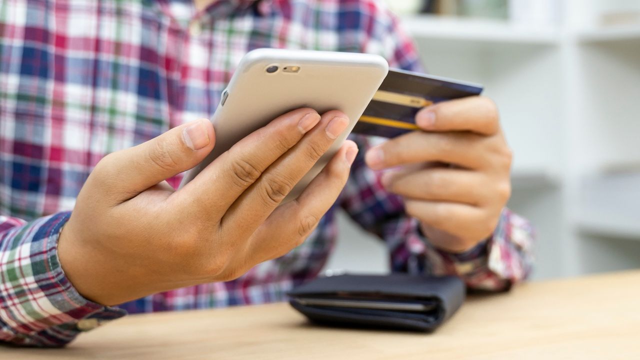
M 425 106 L 440 101 L 479 95 L 483 86 L 453 79 L 440 78 L 390 69 L 353 133 L 394 138 L 420 130 L 415 114 Z

